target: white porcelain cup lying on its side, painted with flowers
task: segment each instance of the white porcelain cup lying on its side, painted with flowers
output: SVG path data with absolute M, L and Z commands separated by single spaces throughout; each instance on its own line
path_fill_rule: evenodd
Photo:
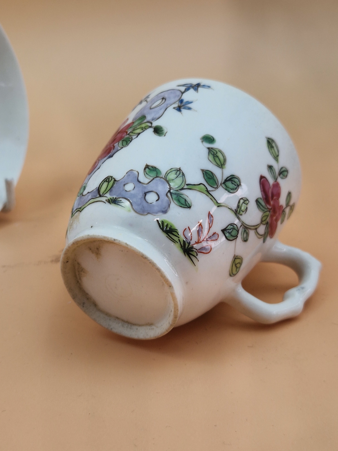
M 211 80 L 167 83 L 134 108 L 75 200 L 61 259 L 84 312 L 133 338 L 155 338 L 221 301 L 260 322 L 301 312 L 320 262 L 277 240 L 301 170 L 265 106 Z M 243 290 L 257 262 L 294 269 L 279 304 Z

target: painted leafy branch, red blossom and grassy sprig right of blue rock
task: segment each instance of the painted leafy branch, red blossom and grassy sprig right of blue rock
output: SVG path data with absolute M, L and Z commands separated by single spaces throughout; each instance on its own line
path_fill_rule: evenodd
M 249 233 L 250 230 L 254 230 L 257 238 L 263 239 L 263 242 L 266 241 L 268 236 L 272 238 L 276 232 L 277 229 L 277 223 L 280 220 L 281 224 L 283 223 L 286 213 L 288 212 L 288 218 L 290 217 L 295 204 L 293 203 L 290 205 L 291 201 L 291 192 L 289 191 L 286 199 L 285 199 L 285 207 L 283 205 L 280 205 L 279 199 L 281 195 L 281 188 L 280 184 L 277 181 L 278 177 L 280 179 L 285 179 L 288 176 L 288 169 L 286 167 L 279 167 L 276 169 L 274 166 L 268 165 L 267 169 L 269 172 L 270 177 L 273 179 L 273 183 L 270 185 L 269 180 L 264 176 L 260 176 L 260 191 L 262 194 L 261 198 L 256 199 L 256 205 L 260 212 L 262 212 L 262 216 L 260 218 L 260 222 L 258 224 L 247 224 L 245 221 L 243 221 L 242 216 L 247 212 L 249 199 L 247 198 L 240 198 L 237 203 L 236 209 L 233 209 L 229 205 L 218 202 L 217 199 L 212 194 L 214 191 L 216 191 L 219 188 L 224 188 L 228 193 L 236 193 L 241 186 L 241 180 L 237 175 L 231 174 L 228 176 L 224 175 L 224 169 L 226 165 L 226 156 L 224 155 L 224 152 L 217 148 L 217 147 L 209 147 L 208 145 L 215 144 L 216 140 L 213 136 L 206 134 L 202 136 L 201 138 L 202 144 L 205 145 L 205 147 L 208 150 L 208 160 L 211 161 L 215 166 L 217 166 L 220 170 L 220 177 L 217 176 L 214 172 L 207 170 L 207 169 L 201 169 L 203 178 L 206 182 L 199 183 L 199 184 L 189 184 L 186 183 L 185 175 L 183 171 L 180 168 L 172 168 L 171 170 L 166 172 L 166 175 L 170 175 L 171 178 L 168 179 L 168 183 L 170 185 L 170 191 L 169 194 L 179 207 L 184 208 L 191 208 L 192 202 L 190 198 L 187 196 L 187 194 L 183 193 L 184 190 L 196 190 L 200 193 L 206 195 L 212 202 L 214 202 L 216 207 L 225 207 L 230 210 L 233 215 L 235 216 L 235 221 L 233 223 L 228 224 L 224 229 L 221 230 L 223 233 L 225 239 L 228 241 L 234 241 L 235 248 L 234 248 L 234 255 L 232 262 L 230 264 L 229 268 L 229 274 L 230 276 L 235 276 L 238 271 L 240 270 L 243 262 L 243 258 L 240 255 L 236 255 L 236 241 L 238 237 L 240 236 L 242 241 L 246 243 L 249 239 Z M 279 162 L 279 148 L 277 146 L 277 143 L 272 138 L 266 138 L 266 143 L 268 150 L 270 152 L 270 155 L 274 158 L 274 160 Z M 158 170 L 159 173 L 160 170 L 152 166 L 152 170 Z M 155 174 L 155 172 L 154 172 Z M 173 177 L 173 174 L 175 177 Z M 219 179 L 221 182 L 219 182 Z M 222 181 L 223 180 L 223 181 Z M 178 181 L 178 182 L 177 182 Z M 208 185 L 208 187 L 207 187 Z M 209 188 L 210 187 L 210 188 Z M 213 221 L 213 216 L 209 212 L 208 214 L 208 221 L 209 225 L 212 225 L 212 221 L 210 222 L 210 217 Z M 212 246 L 216 244 L 217 240 L 219 239 L 219 235 L 217 232 L 214 232 L 214 234 L 210 235 L 209 238 L 206 239 L 206 244 L 197 249 L 198 244 L 200 244 L 200 241 L 197 240 L 194 243 L 192 243 L 192 237 L 191 237 L 191 230 L 189 228 L 185 229 L 183 231 L 183 237 L 179 235 L 177 228 L 174 226 L 174 224 L 169 223 L 169 221 L 162 219 L 157 221 L 160 229 L 162 232 L 164 232 L 165 235 L 171 241 L 173 241 L 173 235 L 176 236 L 176 241 L 174 241 L 176 244 L 179 245 L 179 249 L 182 250 L 184 255 L 186 255 L 190 261 L 196 264 L 194 261 L 194 258 L 197 259 L 197 253 L 210 253 Z M 264 229 L 260 231 L 261 226 L 264 226 Z M 202 224 L 199 223 L 197 226 L 197 235 L 198 238 L 201 235 L 201 232 L 199 233 L 199 230 L 203 230 Z M 210 226 L 211 227 L 211 226 Z M 206 235 L 209 235 L 208 230 Z M 216 236 L 217 235 L 217 236 Z M 212 239 L 211 239 L 212 238 Z M 185 243 L 184 243 L 185 241 Z M 203 240 L 202 240 L 203 241 Z M 201 251 L 201 249 L 203 249 Z M 203 252 L 203 251 L 208 252 Z

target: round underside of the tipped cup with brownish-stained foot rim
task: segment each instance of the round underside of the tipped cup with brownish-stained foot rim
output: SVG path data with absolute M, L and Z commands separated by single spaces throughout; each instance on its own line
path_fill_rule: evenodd
M 61 272 L 70 295 L 92 319 L 120 335 L 149 339 L 174 327 L 182 296 L 164 256 L 149 243 L 142 247 L 148 249 L 82 235 L 64 249 Z

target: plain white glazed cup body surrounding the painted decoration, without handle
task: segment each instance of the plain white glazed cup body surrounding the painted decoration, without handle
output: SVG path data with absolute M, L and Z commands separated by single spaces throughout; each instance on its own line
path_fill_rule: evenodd
M 140 133 L 128 146 L 120 148 L 101 166 L 97 166 L 98 169 L 86 178 L 82 195 L 85 196 L 94 189 L 97 191 L 100 182 L 107 176 L 112 176 L 118 181 L 130 170 L 138 172 L 140 182 L 149 183 L 150 180 L 144 175 L 145 165 L 160 168 L 162 176 L 170 168 L 180 168 L 189 184 L 206 185 L 201 169 L 210 170 L 217 175 L 219 182 L 222 175 L 222 179 L 228 175 L 237 175 L 240 178 L 241 185 L 236 192 L 229 193 L 219 186 L 212 195 L 218 202 L 226 203 L 233 210 L 236 210 L 240 198 L 247 198 L 249 200 L 247 211 L 241 218 L 247 224 L 257 224 L 260 223 L 262 216 L 255 202 L 257 198 L 262 197 L 260 176 L 265 176 L 269 184 L 272 184 L 273 179 L 267 170 L 267 166 L 271 165 L 275 167 L 277 173 L 281 167 L 288 169 L 287 177 L 278 179 L 281 188 L 280 204 L 286 207 L 288 192 L 292 193 L 290 204 L 297 203 L 301 189 L 301 170 L 295 148 L 279 121 L 254 98 L 224 83 L 186 79 L 167 83 L 155 89 L 146 100 L 150 101 L 158 93 L 169 89 L 184 90 L 184 87 L 178 88 L 178 85 L 188 83 L 192 85 L 201 83 L 210 88 L 200 87 L 197 92 L 194 89 L 183 92 L 184 101 L 193 101 L 188 104 L 193 110 L 178 111 L 174 108 L 177 104 L 169 106 L 152 124 L 165 127 L 167 129 L 165 136 L 156 136 L 152 133 L 152 129 Z M 129 115 L 127 123 L 132 122 L 137 116 L 137 111 L 145 105 L 146 101 L 138 105 Z M 215 144 L 210 146 L 202 143 L 201 137 L 205 134 L 212 135 Z M 266 139 L 268 137 L 278 143 L 278 163 L 268 150 Z M 207 147 L 217 147 L 224 152 L 226 164 L 222 175 L 221 169 L 208 159 Z M 129 189 L 129 186 L 126 188 Z M 111 205 L 105 199 L 102 202 L 93 202 L 81 212 L 73 214 L 67 231 L 68 248 L 74 240 L 91 235 L 119 240 L 122 233 L 123 236 L 130 238 L 136 249 L 139 249 L 139 246 L 134 243 L 145 240 L 148 246 L 146 255 L 151 260 L 153 253 L 162 256 L 162 262 L 157 258 L 157 266 L 161 267 L 165 276 L 173 285 L 179 287 L 178 291 L 181 291 L 183 304 L 176 326 L 191 321 L 230 295 L 256 262 L 272 248 L 280 230 L 287 222 L 286 218 L 283 224 L 279 220 L 273 238 L 265 237 L 264 243 L 263 239 L 255 235 L 254 230 L 249 231 L 246 242 L 241 239 L 240 234 L 237 240 L 229 241 L 222 233 L 222 229 L 231 223 L 237 224 L 238 228 L 241 226 L 233 212 L 228 208 L 217 207 L 201 192 L 196 190 L 183 192 L 189 196 L 191 208 L 179 207 L 167 195 L 170 207 L 165 213 L 139 214 L 133 210 L 131 202 L 128 201 L 123 201 L 120 205 Z M 75 211 L 75 208 L 73 210 Z M 183 230 L 188 226 L 194 234 L 197 234 L 199 223 L 203 226 L 203 230 L 206 230 L 208 218 L 210 221 L 209 213 L 213 217 L 210 234 L 216 232 L 218 239 L 208 243 L 212 249 L 210 253 L 198 253 L 198 262 L 197 259 L 192 259 L 194 266 L 164 235 L 157 220 L 170 221 L 183 237 Z M 105 233 L 102 232 L 102 227 L 105 228 Z M 261 225 L 258 229 L 260 234 L 263 234 L 264 230 L 265 225 Z M 121 242 L 123 243 L 123 239 Z M 229 268 L 235 254 L 241 256 L 242 266 L 236 275 L 230 276 Z

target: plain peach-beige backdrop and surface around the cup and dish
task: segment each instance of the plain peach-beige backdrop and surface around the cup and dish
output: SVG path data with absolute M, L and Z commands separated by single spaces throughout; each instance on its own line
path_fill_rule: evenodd
M 0 215 L 0 449 L 338 449 L 338 2 L 0 1 L 31 115 L 17 205 Z M 324 263 L 301 315 L 225 304 L 154 341 L 98 326 L 59 256 L 73 200 L 139 99 L 183 77 L 230 83 L 288 129 L 303 170 L 281 240 Z M 245 287 L 278 302 L 294 273 Z

